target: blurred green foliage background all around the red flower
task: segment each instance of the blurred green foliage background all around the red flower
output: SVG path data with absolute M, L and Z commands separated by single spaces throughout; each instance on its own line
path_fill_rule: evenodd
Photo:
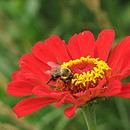
M 51 34 L 69 39 L 75 32 L 114 28 L 115 42 L 130 35 L 129 0 L 0 0 L 0 130 L 85 130 L 81 115 L 67 119 L 63 108 L 47 106 L 17 119 L 20 100 L 6 93 L 18 59 Z M 98 130 L 130 130 L 130 100 L 111 98 L 96 107 Z

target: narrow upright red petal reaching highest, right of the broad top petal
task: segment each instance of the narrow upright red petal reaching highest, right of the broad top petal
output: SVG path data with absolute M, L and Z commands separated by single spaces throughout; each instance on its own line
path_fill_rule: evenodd
M 102 60 L 107 60 L 111 45 L 114 40 L 115 33 L 113 30 L 103 30 L 98 35 L 95 48 L 95 56 Z

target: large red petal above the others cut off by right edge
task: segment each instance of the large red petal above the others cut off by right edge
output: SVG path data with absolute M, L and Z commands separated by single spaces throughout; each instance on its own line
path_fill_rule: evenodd
M 121 41 L 110 54 L 108 64 L 112 68 L 113 75 L 130 75 L 130 36 Z

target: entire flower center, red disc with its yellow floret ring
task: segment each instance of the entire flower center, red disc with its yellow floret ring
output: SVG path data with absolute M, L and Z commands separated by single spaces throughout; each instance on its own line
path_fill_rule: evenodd
M 101 79 L 110 75 L 111 71 L 105 61 L 90 56 L 64 62 L 62 68 L 71 70 L 73 77 L 70 86 L 81 89 L 97 86 Z

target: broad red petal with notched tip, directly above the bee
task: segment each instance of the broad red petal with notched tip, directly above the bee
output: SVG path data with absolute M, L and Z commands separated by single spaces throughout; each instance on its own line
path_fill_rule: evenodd
M 70 59 L 65 43 L 56 35 L 37 43 L 33 48 L 33 54 L 43 62 L 62 63 Z

